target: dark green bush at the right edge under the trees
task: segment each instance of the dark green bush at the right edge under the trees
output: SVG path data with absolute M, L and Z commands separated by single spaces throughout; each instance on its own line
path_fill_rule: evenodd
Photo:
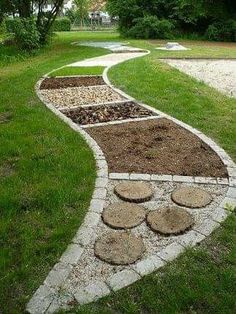
M 216 41 L 236 41 L 236 21 L 227 20 L 211 24 L 207 28 L 206 38 Z

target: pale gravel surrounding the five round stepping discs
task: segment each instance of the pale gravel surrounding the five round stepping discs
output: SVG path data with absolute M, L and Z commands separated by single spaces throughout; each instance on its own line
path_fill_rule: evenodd
M 124 182 L 122 180 L 110 180 L 108 185 L 108 194 L 106 198 L 106 206 L 112 203 L 120 202 L 120 199 L 114 194 L 114 187 Z M 198 185 L 198 184 L 185 184 L 185 183 L 175 183 L 175 182 L 151 182 L 152 188 L 154 189 L 154 197 L 146 203 L 142 203 L 147 210 L 155 210 L 163 206 L 177 206 L 171 200 L 171 193 L 181 186 L 197 186 L 211 193 L 213 197 L 213 202 L 205 208 L 200 209 L 188 209 L 186 210 L 191 213 L 194 217 L 195 223 L 193 229 L 200 229 L 201 225 L 208 219 L 211 219 L 215 209 L 221 204 L 224 199 L 228 187 L 220 185 Z M 74 266 L 71 275 L 67 279 L 66 284 L 63 289 L 69 294 L 74 294 L 78 289 L 83 289 L 83 287 L 88 286 L 94 280 L 99 282 L 107 282 L 109 278 L 120 271 L 128 271 L 130 269 L 136 269 L 136 265 L 140 261 L 146 261 L 149 258 L 162 254 L 162 250 L 168 247 L 168 245 L 177 245 L 178 242 L 183 242 L 186 239 L 186 235 L 191 232 L 188 231 L 183 235 L 179 236 L 169 236 L 165 237 L 153 232 L 148 226 L 146 221 L 141 225 L 131 229 L 132 233 L 139 235 L 143 238 L 146 252 L 141 260 L 138 260 L 133 265 L 129 266 L 114 266 L 106 262 L 101 261 L 94 255 L 94 242 L 96 238 L 100 237 L 103 233 L 110 231 L 111 228 L 100 220 L 98 226 L 94 228 L 94 238 L 93 241 L 84 250 L 81 259 Z M 119 230 L 115 232 L 120 232 Z M 203 238 L 201 238 L 202 240 Z M 143 270 L 145 272 L 145 270 Z

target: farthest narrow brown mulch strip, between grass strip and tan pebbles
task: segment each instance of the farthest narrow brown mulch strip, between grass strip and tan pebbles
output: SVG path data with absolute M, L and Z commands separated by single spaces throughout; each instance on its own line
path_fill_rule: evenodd
M 105 85 L 102 76 L 57 77 L 46 78 L 40 89 L 60 89 L 79 86 Z

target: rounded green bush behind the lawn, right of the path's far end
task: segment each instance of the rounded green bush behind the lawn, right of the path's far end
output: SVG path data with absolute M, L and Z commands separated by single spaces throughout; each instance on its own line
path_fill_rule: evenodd
M 135 25 L 126 33 L 133 38 L 166 39 L 173 37 L 174 24 L 170 20 L 158 19 L 156 16 L 145 16 L 133 21 Z

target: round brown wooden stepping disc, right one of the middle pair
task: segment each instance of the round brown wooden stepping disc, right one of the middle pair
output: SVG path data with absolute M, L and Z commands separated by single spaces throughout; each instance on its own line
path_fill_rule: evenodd
M 194 220 L 185 209 L 170 207 L 151 211 L 147 216 L 147 223 L 153 231 L 171 235 L 190 229 Z

